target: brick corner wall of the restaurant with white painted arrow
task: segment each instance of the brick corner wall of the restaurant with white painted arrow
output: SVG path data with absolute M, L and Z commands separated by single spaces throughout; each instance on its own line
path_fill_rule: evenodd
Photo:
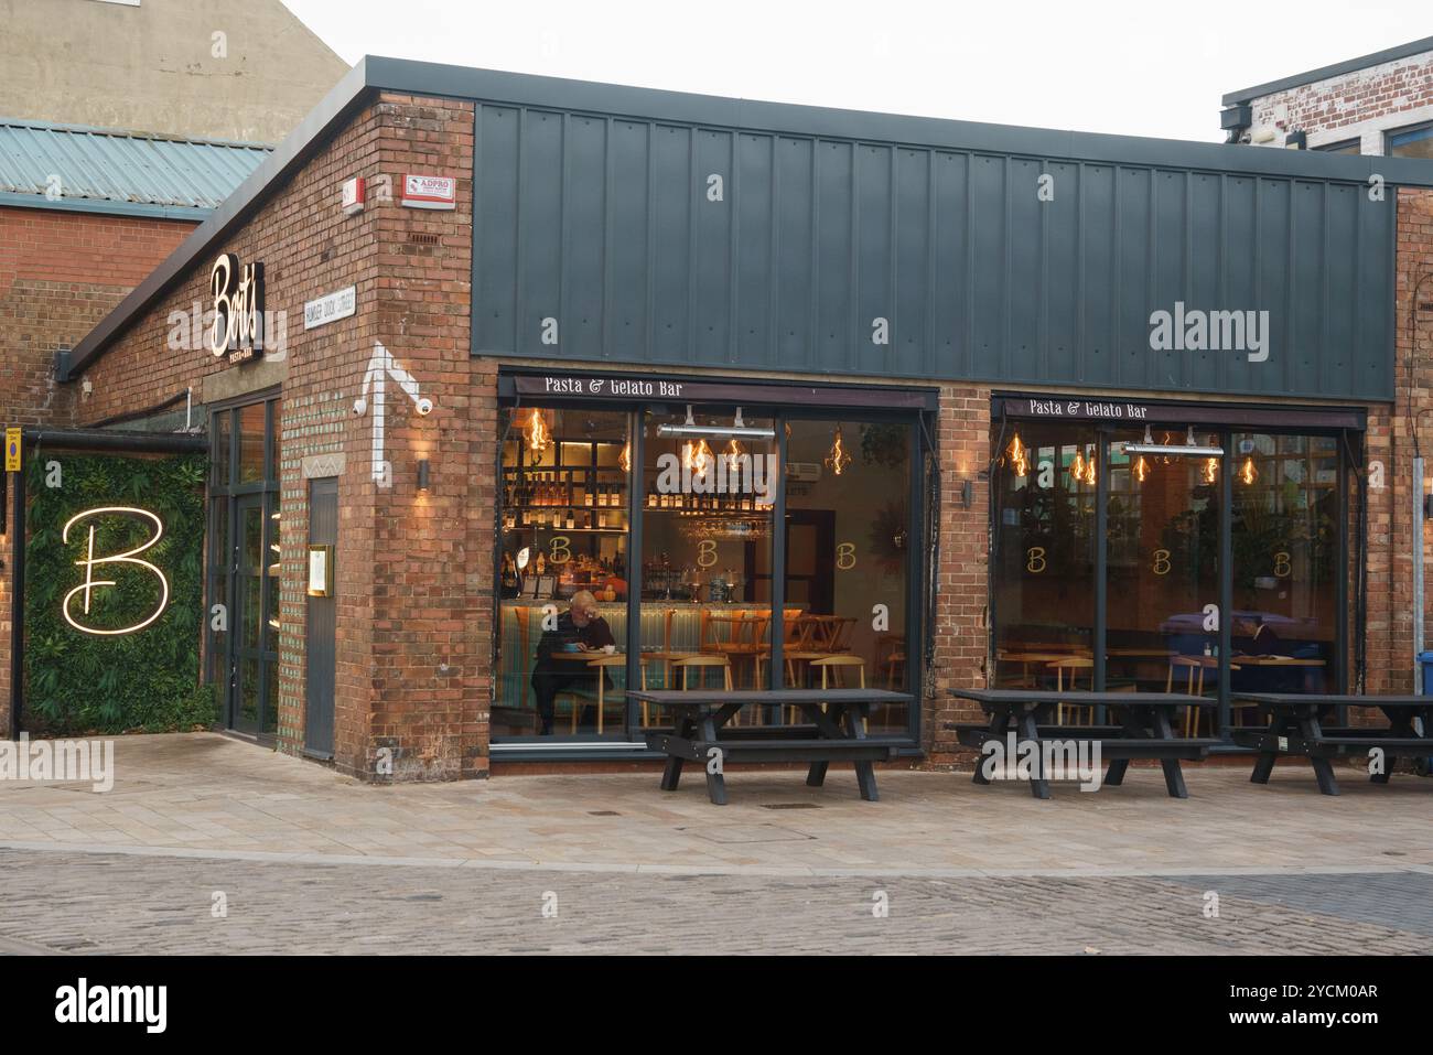
M 304 747 L 308 480 L 304 459 L 342 454 L 338 480 L 335 764 L 385 778 L 483 775 L 490 698 L 496 366 L 469 355 L 471 105 L 383 96 L 292 175 L 215 252 L 265 265 L 265 300 L 287 315 L 281 421 L 278 745 Z M 459 179 L 456 211 L 380 199 L 387 176 Z M 340 209 L 340 188 L 367 176 L 368 208 Z M 417 238 L 414 238 L 417 235 Z M 172 311 L 208 305 L 212 255 L 123 334 L 89 371 L 86 419 L 150 406 L 218 371 L 203 350 L 166 347 Z M 304 330 L 304 302 L 357 287 L 350 318 Z M 278 327 L 275 327 L 275 331 Z M 420 417 L 385 384 L 384 457 L 373 477 L 373 411 L 354 400 L 381 341 L 434 411 Z M 433 474 L 417 493 L 417 460 Z M 387 751 L 384 751 L 387 748 Z M 381 754 L 383 753 L 383 754 Z

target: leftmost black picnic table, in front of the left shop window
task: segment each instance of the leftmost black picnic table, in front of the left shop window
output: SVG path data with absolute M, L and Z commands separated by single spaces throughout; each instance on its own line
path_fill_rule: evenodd
M 873 704 L 913 704 L 906 692 L 880 688 L 830 689 L 642 689 L 629 697 L 674 712 L 672 731 L 646 734 L 648 747 L 663 751 L 662 790 L 675 791 L 682 765 L 699 763 L 706 770 L 706 793 L 716 806 L 727 804 L 725 763 L 810 763 L 807 786 L 821 787 L 827 767 L 856 763 L 861 798 L 877 801 L 873 763 L 896 757 L 896 747 L 866 738 Z M 792 707 L 807 720 L 791 725 L 728 725 L 744 707 Z M 712 763 L 716 761 L 714 765 Z

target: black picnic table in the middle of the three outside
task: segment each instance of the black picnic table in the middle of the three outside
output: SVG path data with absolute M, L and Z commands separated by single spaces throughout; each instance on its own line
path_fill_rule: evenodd
M 1050 786 L 1042 767 L 1046 741 L 1085 741 L 1098 744 L 1101 758 L 1109 758 L 1105 784 L 1119 787 L 1132 758 L 1158 758 L 1165 775 L 1165 788 L 1172 798 L 1188 798 L 1179 760 L 1198 761 L 1221 741 L 1212 738 L 1175 737 L 1169 715 L 1179 707 L 1214 707 L 1212 700 L 1178 692 L 1049 692 L 1006 688 L 953 688 L 953 697 L 973 700 L 989 715 L 986 724 L 957 722 L 956 738 L 966 747 L 982 748 L 986 741 L 1003 743 L 1009 732 L 1022 741 L 1037 744 L 1035 753 L 1030 794 L 1049 798 Z M 1070 707 L 1118 708 L 1119 721 L 1105 725 L 1056 725 L 1049 721 L 1059 704 Z M 1009 760 L 1007 760 L 1009 761 Z M 976 784 L 989 778 L 976 765 Z

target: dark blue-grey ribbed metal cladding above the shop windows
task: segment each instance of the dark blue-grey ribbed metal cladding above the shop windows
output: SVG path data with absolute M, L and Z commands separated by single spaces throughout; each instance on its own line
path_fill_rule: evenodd
M 476 122 L 477 353 L 1391 397 L 1391 186 L 1373 202 L 1254 148 L 1235 172 L 520 105 Z M 1152 351 L 1176 301 L 1268 311 L 1268 360 Z

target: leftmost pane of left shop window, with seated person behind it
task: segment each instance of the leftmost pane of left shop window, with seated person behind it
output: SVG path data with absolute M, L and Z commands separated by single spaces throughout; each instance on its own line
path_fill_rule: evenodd
M 503 426 L 493 738 L 623 740 L 628 414 L 520 407 Z

